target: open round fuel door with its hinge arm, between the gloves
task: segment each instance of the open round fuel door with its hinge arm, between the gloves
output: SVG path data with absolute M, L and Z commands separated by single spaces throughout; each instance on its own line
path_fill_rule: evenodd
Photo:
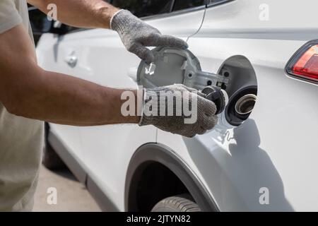
M 157 47 L 153 54 L 153 63 L 141 61 L 137 71 L 136 81 L 145 88 L 184 84 L 204 90 L 208 85 L 223 88 L 230 82 L 224 76 L 201 71 L 199 60 L 188 49 Z

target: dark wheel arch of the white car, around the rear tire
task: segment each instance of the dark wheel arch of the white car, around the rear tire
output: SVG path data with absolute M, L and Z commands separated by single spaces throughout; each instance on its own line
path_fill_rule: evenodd
M 179 182 L 182 182 L 185 189 L 189 191 L 189 194 L 192 195 L 201 210 L 219 211 L 213 197 L 193 170 L 172 149 L 160 143 L 141 145 L 131 157 L 126 173 L 124 192 L 126 211 L 142 210 L 138 200 L 139 194 L 146 189 L 142 188 L 142 177 L 149 169 L 148 167 L 153 164 L 161 165 L 174 174 L 179 179 Z M 170 177 L 173 179 L 172 175 Z M 174 179 L 173 182 L 177 183 L 177 179 Z M 151 186 L 149 184 L 146 184 L 146 186 Z

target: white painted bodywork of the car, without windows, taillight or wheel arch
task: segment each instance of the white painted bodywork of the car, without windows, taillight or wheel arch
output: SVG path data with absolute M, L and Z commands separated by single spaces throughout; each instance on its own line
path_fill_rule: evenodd
M 218 73 L 233 56 L 250 61 L 257 76 L 258 99 L 242 126 L 183 138 L 153 126 L 71 131 L 69 126 L 50 125 L 119 210 L 124 210 L 129 160 L 148 142 L 163 144 L 181 157 L 221 211 L 317 210 L 318 87 L 285 74 L 290 57 L 318 37 L 316 8 L 317 3 L 309 0 L 302 4 L 235 0 L 207 8 L 205 16 L 201 9 L 148 18 L 165 34 L 184 39 L 191 35 L 189 47 L 203 71 Z M 78 64 L 71 69 L 64 58 L 73 52 Z M 126 52 L 110 30 L 83 30 L 62 37 L 47 34 L 37 53 L 45 69 L 114 88 L 136 88 L 127 74 L 139 59 Z M 268 191 L 269 204 L 261 202 L 264 191 Z

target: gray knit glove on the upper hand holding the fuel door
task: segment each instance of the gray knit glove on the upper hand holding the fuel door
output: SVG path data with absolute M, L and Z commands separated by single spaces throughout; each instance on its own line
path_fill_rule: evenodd
M 129 11 L 116 13 L 110 21 L 112 30 L 116 30 L 129 52 L 146 61 L 153 62 L 153 53 L 146 47 L 175 47 L 187 49 L 187 42 L 169 35 L 161 35 L 160 31 L 151 27 Z

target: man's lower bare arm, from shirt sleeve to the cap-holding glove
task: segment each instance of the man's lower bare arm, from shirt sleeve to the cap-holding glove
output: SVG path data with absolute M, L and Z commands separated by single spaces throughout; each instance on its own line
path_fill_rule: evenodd
M 105 88 L 37 66 L 23 25 L 0 35 L 0 49 L 0 102 L 8 112 L 73 126 L 139 122 L 139 117 L 121 114 L 124 90 Z

